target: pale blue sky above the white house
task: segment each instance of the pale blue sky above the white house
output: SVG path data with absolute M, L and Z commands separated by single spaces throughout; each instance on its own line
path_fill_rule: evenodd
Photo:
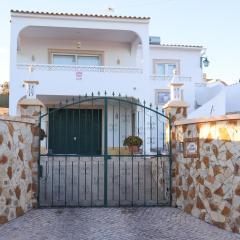
M 240 0 L 0 0 L 0 83 L 9 80 L 10 10 L 151 17 L 149 32 L 166 44 L 207 48 L 209 78 L 240 79 Z

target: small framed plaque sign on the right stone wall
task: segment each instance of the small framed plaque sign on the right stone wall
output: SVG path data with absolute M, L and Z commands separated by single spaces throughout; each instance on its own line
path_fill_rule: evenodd
M 187 138 L 184 140 L 184 157 L 197 158 L 199 156 L 199 139 Z

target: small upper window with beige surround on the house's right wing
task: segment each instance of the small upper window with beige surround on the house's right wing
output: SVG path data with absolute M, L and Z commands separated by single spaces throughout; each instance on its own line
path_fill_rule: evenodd
M 173 76 L 174 69 L 179 73 L 178 60 L 154 60 L 154 75 Z

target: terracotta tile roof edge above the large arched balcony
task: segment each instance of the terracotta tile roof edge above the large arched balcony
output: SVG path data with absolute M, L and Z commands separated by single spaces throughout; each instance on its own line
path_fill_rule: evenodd
M 75 17 L 121 18 L 121 19 L 139 19 L 139 20 L 150 19 L 150 17 L 136 17 L 136 16 L 118 16 L 118 15 L 87 14 L 87 13 L 55 13 L 55 12 L 23 11 L 23 10 L 11 10 L 11 13 L 52 15 L 52 16 L 73 16 L 73 17 L 75 16 Z

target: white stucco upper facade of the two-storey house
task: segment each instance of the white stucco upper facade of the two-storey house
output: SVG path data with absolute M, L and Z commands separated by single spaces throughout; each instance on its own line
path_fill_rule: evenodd
M 182 98 L 194 111 L 196 88 L 203 84 L 199 46 L 149 44 L 149 19 L 57 15 L 13 11 L 11 14 L 10 114 L 17 113 L 26 80 L 36 80 L 37 96 L 110 95 L 139 98 L 153 105 L 169 91 L 172 76 L 159 76 L 156 64 L 177 66 Z M 100 66 L 56 65 L 53 53 L 99 54 Z M 31 71 L 29 71 L 31 68 Z M 80 77 L 79 77 L 80 75 Z

